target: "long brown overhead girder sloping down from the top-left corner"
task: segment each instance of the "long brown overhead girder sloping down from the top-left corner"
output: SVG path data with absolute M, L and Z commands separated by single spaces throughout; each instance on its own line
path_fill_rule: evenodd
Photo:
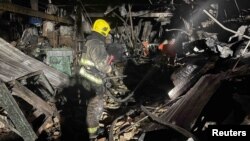
M 49 15 L 40 11 L 32 10 L 27 7 L 11 4 L 11 3 L 1 3 L 0 4 L 0 10 L 3 11 L 9 11 L 13 13 L 18 13 L 18 14 L 23 14 L 23 15 L 28 15 L 28 16 L 33 16 L 33 17 L 39 17 L 51 21 L 56 21 L 56 22 L 61 22 L 61 23 L 66 23 L 66 24 L 72 24 L 73 22 L 69 18 L 62 18 L 62 17 L 57 17 L 53 15 Z

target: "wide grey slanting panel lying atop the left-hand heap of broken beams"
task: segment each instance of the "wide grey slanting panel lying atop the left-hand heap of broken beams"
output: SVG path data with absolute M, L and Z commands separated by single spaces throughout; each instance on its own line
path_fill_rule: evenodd
M 31 72 L 42 70 L 54 88 L 67 85 L 66 74 L 40 62 L 0 38 L 0 79 L 4 82 L 17 79 Z

